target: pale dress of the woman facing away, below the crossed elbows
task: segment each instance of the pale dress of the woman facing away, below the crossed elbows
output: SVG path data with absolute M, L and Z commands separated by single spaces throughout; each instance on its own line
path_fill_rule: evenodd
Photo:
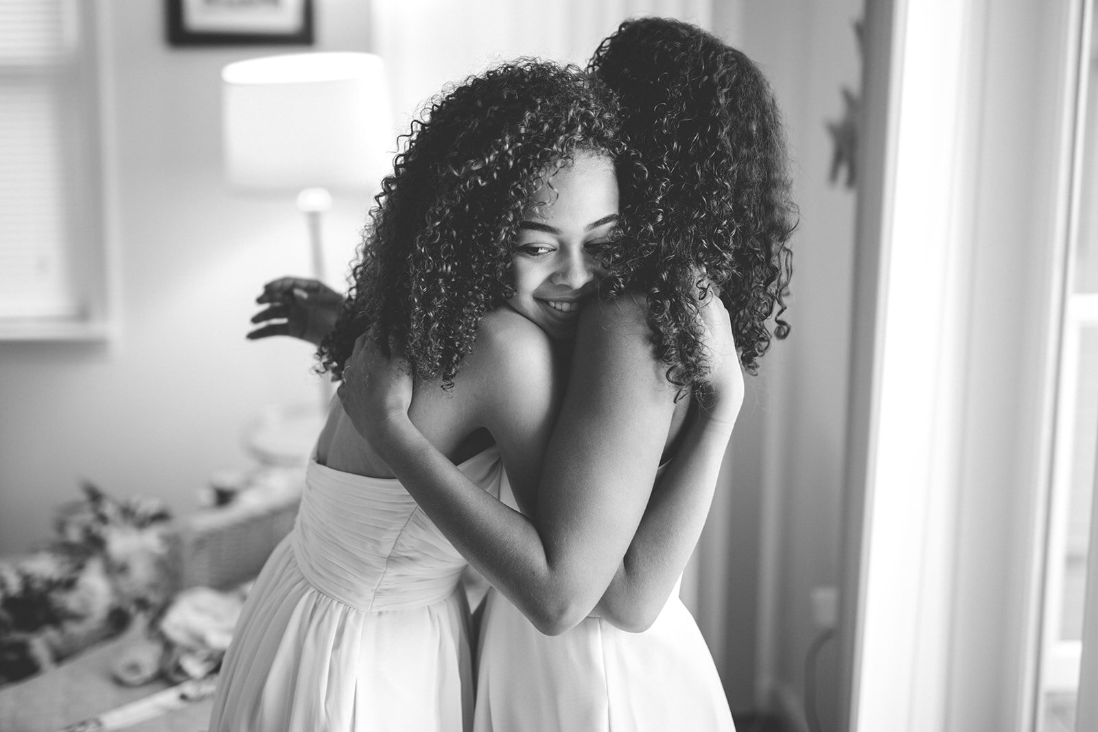
M 502 493 L 514 507 L 506 481 Z M 489 590 L 475 732 L 735 731 L 713 656 L 677 590 L 642 633 L 586 618 L 552 637 Z

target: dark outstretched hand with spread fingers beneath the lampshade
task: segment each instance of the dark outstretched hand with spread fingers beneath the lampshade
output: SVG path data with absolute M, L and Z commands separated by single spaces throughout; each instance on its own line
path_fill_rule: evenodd
M 341 294 L 318 280 L 271 280 L 256 297 L 257 304 L 268 307 L 251 316 L 259 327 L 248 334 L 248 339 L 290 336 L 320 346 L 335 327 L 343 302 Z

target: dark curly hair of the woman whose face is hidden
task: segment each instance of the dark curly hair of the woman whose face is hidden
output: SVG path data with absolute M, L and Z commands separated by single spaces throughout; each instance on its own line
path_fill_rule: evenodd
M 675 20 L 621 23 L 589 70 L 621 104 L 621 135 L 645 174 L 623 179 L 624 236 L 602 254 L 603 295 L 647 293 L 657 356 L 672 383 L 701 385 L 706 363 L 694 297 L 712 282 L 750 373 L 782 319 L 796 226 L 781 113 L 739 50 Z M 699 275 L 704 273 L 704 280 Z

